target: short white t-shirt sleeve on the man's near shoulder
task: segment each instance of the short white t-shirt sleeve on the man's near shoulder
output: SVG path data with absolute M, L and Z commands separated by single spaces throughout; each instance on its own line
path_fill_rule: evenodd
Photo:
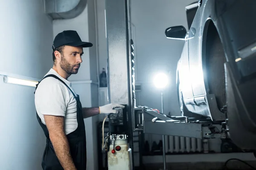
M 43 115 L 65 116 L 67 93 L 58 82 L 49 82 L 50 79 L 44 79 L 38 85 L 35 92 L 36 109 Z

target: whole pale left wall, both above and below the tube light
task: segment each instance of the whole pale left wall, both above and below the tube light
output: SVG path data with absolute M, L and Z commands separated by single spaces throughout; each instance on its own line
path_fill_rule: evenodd
M 52 20 L 42 0 L 1 0 L 0 74 L 41 79 L 52 67 Z M 35 88 L 0 76 L 0 169 L 39 170 L 46 144 L 36 119 Z

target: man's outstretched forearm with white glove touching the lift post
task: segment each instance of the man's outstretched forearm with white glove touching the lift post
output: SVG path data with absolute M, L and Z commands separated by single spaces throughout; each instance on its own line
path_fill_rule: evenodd
M 107 113 L 107 114 L 115 113 L 115 114 L 117 114 L 118 111 L 114 110 L 114 108 L 125 108 L 125 106 L 111 103 L 111 104 L 100 106 L 100 107 L 82 108 L 83 117 L 85 119 L 85 118 L 95 116 L 95 115 L 101 114 L 101 113 Z

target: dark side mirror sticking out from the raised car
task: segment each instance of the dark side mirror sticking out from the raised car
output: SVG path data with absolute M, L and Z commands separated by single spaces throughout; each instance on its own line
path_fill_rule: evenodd
M 169 27 L 165 31 L 166 37 L 174 40 L 185 40 L 186 28 L 183 26 Z

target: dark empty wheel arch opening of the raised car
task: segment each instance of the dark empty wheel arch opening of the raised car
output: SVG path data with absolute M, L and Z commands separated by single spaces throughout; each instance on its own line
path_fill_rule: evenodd
M 215 94 L 216 100 L 218 100 L 218 108 L 220 109 L 225 105 L 226 101 L 224 97 L 226 95 L 224 82 L 226 55 L 218 27 L 215 26 L 214 21 L 210 18 L 204 24 L 201 49 L 205 91 L 206 94 Z M 215 73 L 215 68 L 219 68 L 220 70 L 216 69 L 217 71 Z M 220 79 L 222 78 L 222 82 L 218 82 L 218 77 Z M 217 90 L 219 88 L 222 88 L 222 92 Z

